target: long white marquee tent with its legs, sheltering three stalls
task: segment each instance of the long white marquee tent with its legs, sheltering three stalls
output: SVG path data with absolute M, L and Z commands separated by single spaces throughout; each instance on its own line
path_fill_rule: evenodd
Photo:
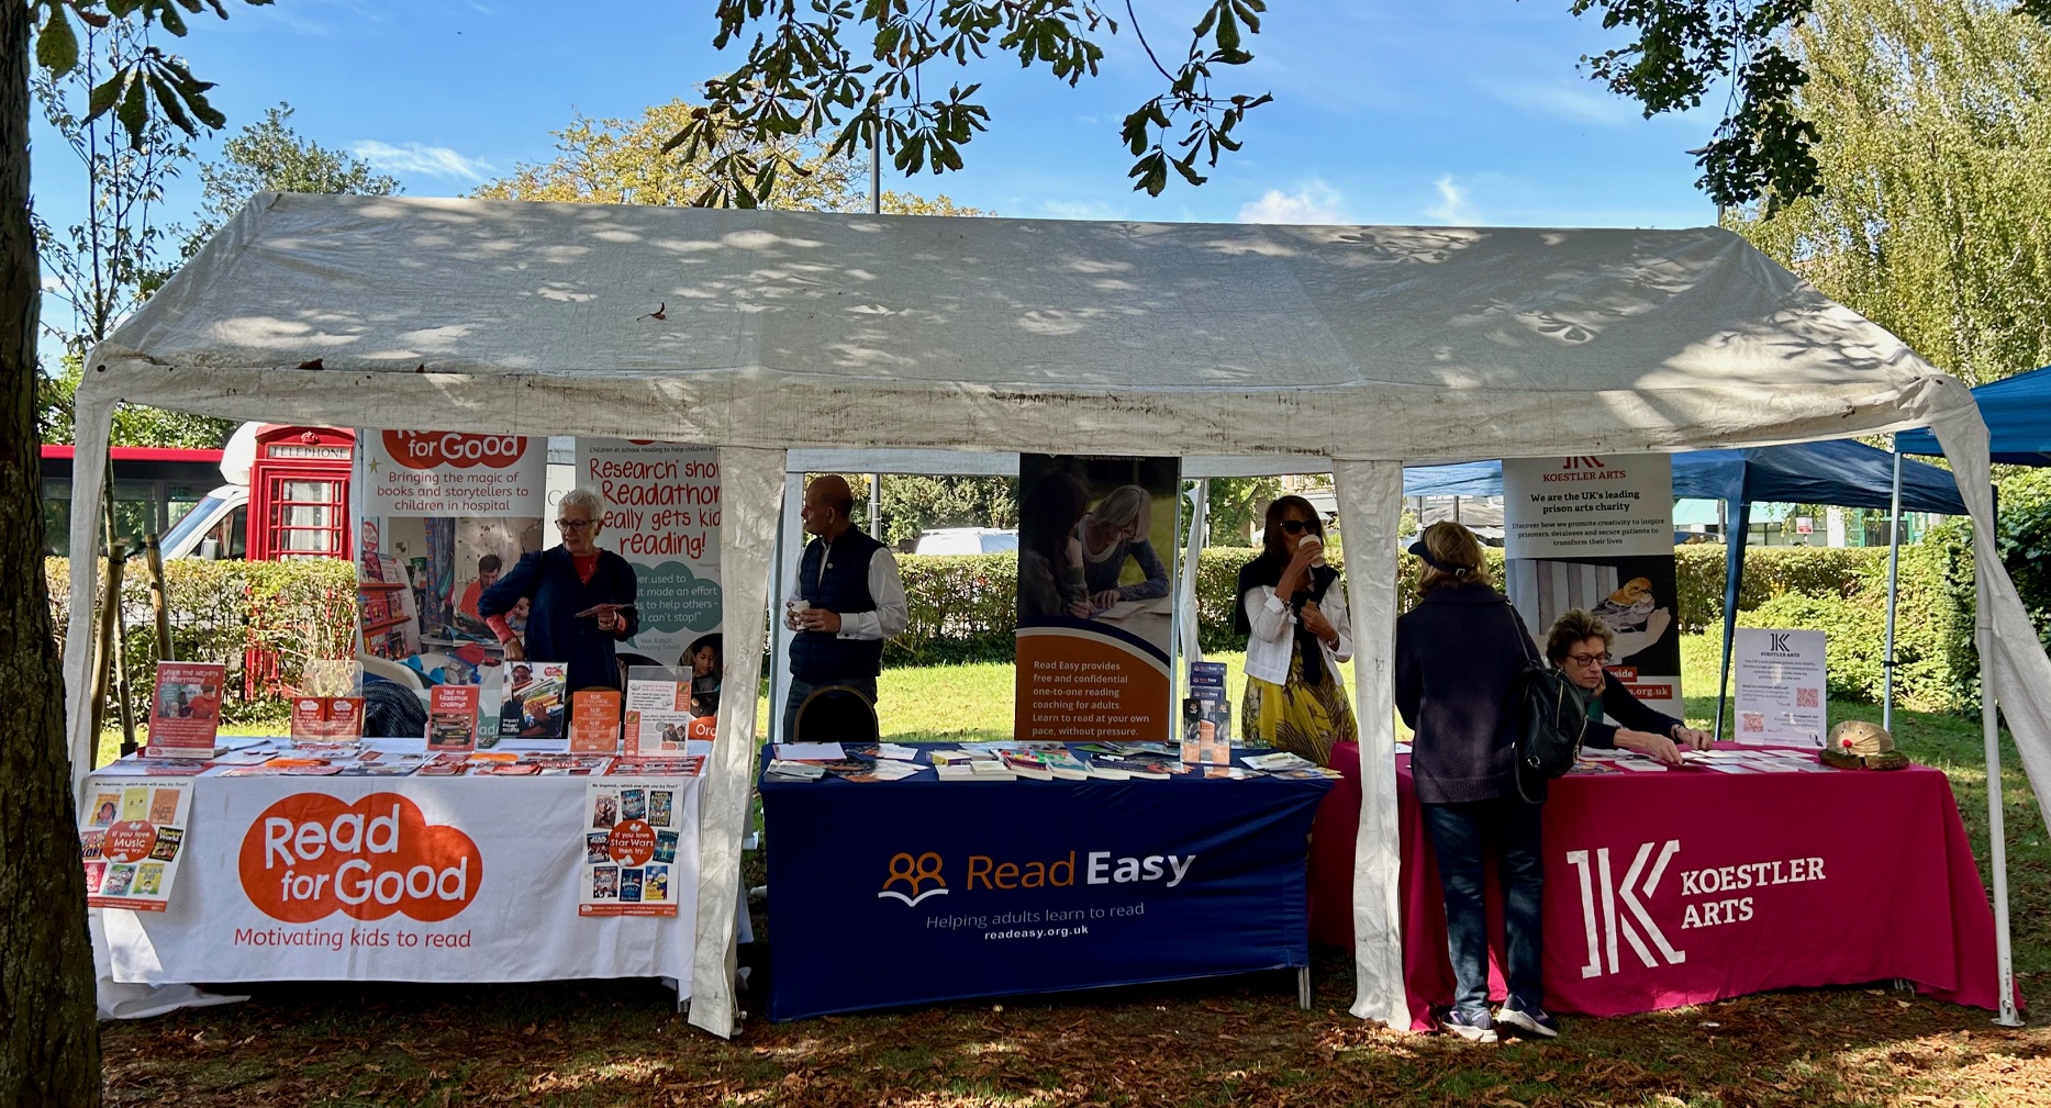
M 320 359 L 312 369 L 304 363 Z M 1401 466 L 1932 427 L 1975 525 L 1965 386 L 1737 236 L 1085 224 L 258 195 L 88 361 L 76 505 L 117 402 L 250 421 L 720 449 L 728 679 L 759 679 L 790 449 L 1171 453 L 1329 468 L 1360 655 L 1354 1014 L 1407 1026 L 1391 648 Z M 880 468 L 880 466 L 863 466 Z M 72 513 L 72 550 L 96 546 Z M 2051 798 L 2051 661 L 1977 544 L 1985 685 Z M 92 562 L 66 679 L 84 733 Z M 1989 757 L 1994 714 L 1989 712 Z M 755 714 L 720 718 L 691 1022 L 734 1034 Z M 1994 790 L 1998 800 L 2000 792 Z M 2000 874 L 2000 808 L 1994 806 Z M 2006 905 L 1998 886 L 2002 995 Z

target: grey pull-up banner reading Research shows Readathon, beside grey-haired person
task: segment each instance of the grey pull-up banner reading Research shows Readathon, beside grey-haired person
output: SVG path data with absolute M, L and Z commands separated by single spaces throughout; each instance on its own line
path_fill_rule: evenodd
M 621 650 L 679 665 L 720 630 L 720 451 L 576 439 L 576 484 L 605 497 L 599 546 L 638 579 L 640 632 Z

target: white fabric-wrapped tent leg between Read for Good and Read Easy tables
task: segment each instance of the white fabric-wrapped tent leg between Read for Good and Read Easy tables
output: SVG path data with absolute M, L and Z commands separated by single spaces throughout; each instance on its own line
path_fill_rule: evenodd
M 734 927 L 740 905 L 740 839 L 755 792 L 755 696 L 761 687 L 763 630 L 777 521 L 783 513 L 781 449 L 720 447 L 720 577 L 724 587 L 726 675 L 720 737 L 706 759 L 697 823 L 697 948 L 691 958 L 691 1024 L 740 1034 L 734 1007 Z

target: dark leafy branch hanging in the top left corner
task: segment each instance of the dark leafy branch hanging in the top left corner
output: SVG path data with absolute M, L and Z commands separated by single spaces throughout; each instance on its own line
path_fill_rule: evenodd
M 271 4 L 271 0 L 242 0 L 250 6 Z M 35 16 L 35 62 L 51 76 L 66 76 L 78 68 L 76 18 L 90 29 L 107 29 L 113 21 L 139 18 L 144 27 L 162 27 L 185 37 L 185 14 L 213 12 L 228 18 L 222 0 L 29 0 Z M 219 129 L 228 117 L 207 103 L 211 82 L 199 80 L 185 66 L 185 60 L 164 53 L 158 47 L 144 47 L 127 60 L 107 80 L 92 86 L 90 109 L 84 123 L 109 111 L 121 123 L 129 144 L 142 150 L 150 125 L 150 105 L 164 113 L 174 127 L 187 135 L 197 135 L 199 127 Z

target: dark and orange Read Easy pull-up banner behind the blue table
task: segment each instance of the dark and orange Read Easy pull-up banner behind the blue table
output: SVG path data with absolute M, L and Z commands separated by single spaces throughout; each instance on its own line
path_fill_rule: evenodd
M 1017 739 L 1175 730 L 1179 484 L 1175 458 L 1019 458 Z

